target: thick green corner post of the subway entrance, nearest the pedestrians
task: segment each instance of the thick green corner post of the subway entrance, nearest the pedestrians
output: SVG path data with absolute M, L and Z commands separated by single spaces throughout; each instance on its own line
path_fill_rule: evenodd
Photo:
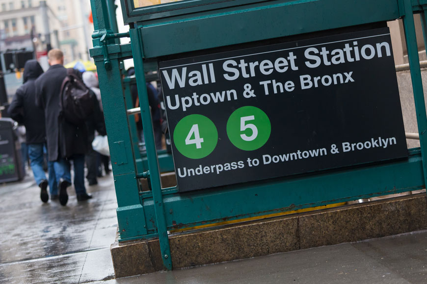
M 108 11 L 105 0 L 91 0 L 95 34 L 109 29 Z M 94 46 L 97 40 L 94 40 Z M 107 128 L 108 145 L 117 196 L 117 220 L 121 238 L 147 234 L 144 208 L 139 201 L 138 181 L 128 127 L 128 116 L 123 99 L 122 74 L 117 55 L 111 56 L 111 69 L 104 67 L 103 56 L 96 56 L 101 98 Z

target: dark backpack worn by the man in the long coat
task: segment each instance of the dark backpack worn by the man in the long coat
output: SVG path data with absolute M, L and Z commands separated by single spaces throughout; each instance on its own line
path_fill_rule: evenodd
M 67 69 L 67 76 L 62 81 L 60 101 L 62 116 L 76 125 L 84 123 L 93 113 L 93 92 L 84 85 L 72 68 Z

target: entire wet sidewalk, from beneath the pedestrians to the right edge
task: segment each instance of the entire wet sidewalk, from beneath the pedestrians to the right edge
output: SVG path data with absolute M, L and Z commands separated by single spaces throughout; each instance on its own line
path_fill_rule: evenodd
M 32 178 L 0 186 L 0 284 L 424 284 L 427 231 L 114 279 L 112 176 L 93 199 L 43 204 Z

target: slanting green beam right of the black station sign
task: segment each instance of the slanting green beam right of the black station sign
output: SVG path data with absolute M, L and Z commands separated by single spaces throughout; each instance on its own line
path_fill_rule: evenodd
M 418 133 L 420 135 L 421 156 L 423 157 L 424 183 L 427 185 L 427 116 L 411 0 L 403 0 L 403 8 L 403 27 L 405 30 L 406 47 L 408 50 L 412 88 L 414 91 L 415 111 L 417 114 Z

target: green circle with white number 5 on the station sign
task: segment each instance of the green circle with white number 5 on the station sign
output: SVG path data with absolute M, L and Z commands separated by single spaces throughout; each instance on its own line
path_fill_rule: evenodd
M 261 148 L 270 137 L 271 123 L 265 112 L 253 106 L 235 110 L 227 121 L 227 135 L 241 150 Z

